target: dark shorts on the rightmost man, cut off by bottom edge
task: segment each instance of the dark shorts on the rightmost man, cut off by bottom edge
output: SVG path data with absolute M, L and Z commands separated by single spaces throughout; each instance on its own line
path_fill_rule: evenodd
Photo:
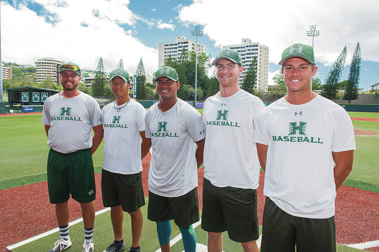
M 311 219 L 290 215 L 269 197 L 263 211 L 261 252 L 335 252 L 334 216 Z

